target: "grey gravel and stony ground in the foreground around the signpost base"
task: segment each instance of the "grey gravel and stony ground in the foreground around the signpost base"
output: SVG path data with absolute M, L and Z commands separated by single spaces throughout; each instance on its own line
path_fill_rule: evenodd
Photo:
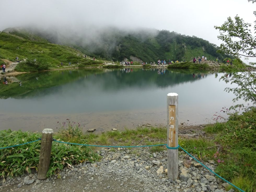
M 0 192 L 224 192 L 229 185 L 183 151 L 179 151 L 179 178 L 175 181 L 167 177 L 166 150 L 151 153 L 149 148 L 102 148 L 97 153 L 102 156 L 100 162 L 65 167 L 44 181 L 38 180 L 36 173 L 1 179 Z M 213 171 L 217 166 L 214 161 L 203 163 Z

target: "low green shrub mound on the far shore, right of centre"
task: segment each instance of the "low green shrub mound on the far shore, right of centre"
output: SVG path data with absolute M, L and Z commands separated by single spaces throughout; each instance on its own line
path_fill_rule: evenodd
M 190 61 L 186 61 L 186 62 L 173 63 L 171 65 L 168 65 L 168 69 L 171 69 L 171 68 L 212 69 L 213 67 L 211 67 L 207 63 L 199 64 L 199 63 L 193 63 L 193 62 L 190 62 Z

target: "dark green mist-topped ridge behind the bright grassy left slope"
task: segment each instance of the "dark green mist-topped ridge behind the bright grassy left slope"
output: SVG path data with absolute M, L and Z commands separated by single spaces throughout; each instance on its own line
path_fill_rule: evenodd
M 33 31 L 33 32 L 32 32 Z M 124 59 L 138 62 L 157 62 L 158 59 L 168 61 L 190 61 L 192 57 L 207 57 L 207 60 L 222 61 L 229 57 L 217 53 L 217 45 L 195 36 L 185 36 L 166 30 L 140 30 L 125 32 L 115 28 L 102 31 L 97 38 L 86 34 L 66 35 L 54 31 L 24 30 L 8 28 L 3 32 L 17 36 L 51 43 L 72 46 L 84 54 L 103 60 L 123 61 Z M 94 40 L 92 40 L 94 39 Z

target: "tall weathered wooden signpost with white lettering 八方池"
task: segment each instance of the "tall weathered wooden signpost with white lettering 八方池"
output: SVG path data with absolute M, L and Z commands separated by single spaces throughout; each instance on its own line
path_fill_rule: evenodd
M 178 146 L 178 94 L 167 94 L 167 144 Z M 178 149 L 167 149 L 167 175 L 170 179 L 178 178 Z

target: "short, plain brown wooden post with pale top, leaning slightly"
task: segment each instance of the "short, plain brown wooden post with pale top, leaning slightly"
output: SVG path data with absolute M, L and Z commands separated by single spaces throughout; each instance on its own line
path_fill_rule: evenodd
M 53 142 L 53 130 L 44 129 L 42 133 L 41 150 L 40 150 L 39 164 L 37 169 L 38 179 L 46 179 L 46 174 L 50 166 L 52 142 Z

